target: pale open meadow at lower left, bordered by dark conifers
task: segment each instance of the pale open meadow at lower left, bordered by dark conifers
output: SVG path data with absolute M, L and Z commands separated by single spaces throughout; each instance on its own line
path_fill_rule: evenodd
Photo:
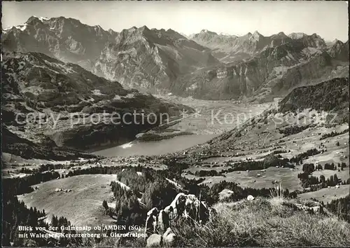
M 64 216 L 75 226 L 94 226 L 111 223 L 111 218 L 104 216 L 102 201 L 111 198 L 109 184 L 116 180 L 116 175 L 92 174 L 55 179 L 36 184 L 38 189 L 25 195 L 18 195 L 18 200 L 27 207 L 45 209 L 50 221 L 51 214 Z M 70 192 L 59 191 L 70 189 Z

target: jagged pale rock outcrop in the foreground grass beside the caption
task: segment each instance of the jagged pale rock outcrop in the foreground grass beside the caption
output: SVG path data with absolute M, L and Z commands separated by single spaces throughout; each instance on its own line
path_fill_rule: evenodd
M 172 221 L 186 219 L 192 223 L 205 223 L 209 220 L 211 209 L 198 200 L 195 195 L 179 193 L 172 203 L 164 209 L 153 207 L 147 213 L 145 233 L 148 237 L 147 244 L 172 245 L 176 235 L 172 231 Z M 156 241 L 155 241 L 156 240 Z

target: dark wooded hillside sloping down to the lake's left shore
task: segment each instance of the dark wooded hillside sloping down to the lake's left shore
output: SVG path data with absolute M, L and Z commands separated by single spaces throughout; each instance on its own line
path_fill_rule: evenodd
M 1 67 L 3 123 L 37 144 L 50 140 L 75 149 L 123 144 L 159 125 L 162 113 L 176 118 L 190 110 L 42 53 L 6 53 Z M 134 112 L 139 115 L 132 118 Z M 154 113 L 156 121 L 142 122 L 141 113 Z M 131 117 L 123 119 L 126 115 Z

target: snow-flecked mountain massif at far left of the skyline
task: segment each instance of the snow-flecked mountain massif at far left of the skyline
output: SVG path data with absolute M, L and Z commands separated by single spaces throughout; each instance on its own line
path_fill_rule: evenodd
M 117 34 L 73 18 L 31 16 L 23 25 L 3 29 L 1 43 L 7 50 L 44 53 L 90 70 L 106 43 Z

